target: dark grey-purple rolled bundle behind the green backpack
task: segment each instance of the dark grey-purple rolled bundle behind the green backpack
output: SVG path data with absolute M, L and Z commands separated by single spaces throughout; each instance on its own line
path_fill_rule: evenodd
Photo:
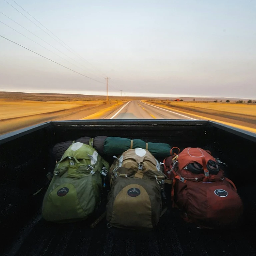
M 93 146 L 98 153 L 103 156 L 104 155 L 104 141 L 107 138 L 107 136 L 97 136 L 95 138 L 90 137 L 81 137 L 79 139 L 76 139 L 75 142 L 81 142 L 86 145 Z M 60 142 L 54 145 L 53 147 L 53 155 L 57 161 L 61 159 L 65 151 L 68 149 L 68 147 L 73 143 L 73 140 L 68 140 L 64 142 Z

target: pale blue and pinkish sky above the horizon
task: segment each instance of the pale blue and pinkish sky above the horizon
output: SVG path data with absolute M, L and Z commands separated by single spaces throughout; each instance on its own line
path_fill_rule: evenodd
M 256 98 L 256 0 L 15 1 L 86 61 L 4 0 L 2 13 L 59 51 L 0 13 L 1 22 L 66 60 L 1 22 L 0 35 L 102 83 L 0 37 L 0 91 L 102 94 L 107 75 L 110 95 Z

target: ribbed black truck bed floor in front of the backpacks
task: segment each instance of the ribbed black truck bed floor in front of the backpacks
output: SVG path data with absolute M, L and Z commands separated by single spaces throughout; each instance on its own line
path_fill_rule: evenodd
M 33 256 L 234 256 L 256 255 L 253 239 L 239 230 L 202 230 L 183 222 L 168 209 L 157 229 L 149 232 L 107 228 L 102 220 L 95 228 L 88 222 L 51 224 L 40 213 L 21 232 L 6 255 Z

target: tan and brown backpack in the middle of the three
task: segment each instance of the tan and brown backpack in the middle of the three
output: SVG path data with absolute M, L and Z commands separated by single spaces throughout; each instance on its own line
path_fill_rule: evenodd
M 110 169 L 108 227 L 147 229 L 157 226 L 162 211 L 165 175 L 145 149 L 129 149 Z

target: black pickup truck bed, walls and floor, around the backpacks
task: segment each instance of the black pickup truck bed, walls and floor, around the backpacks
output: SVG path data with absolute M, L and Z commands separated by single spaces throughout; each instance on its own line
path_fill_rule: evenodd
M 150 232 L 107 228 L 103 219 L 52 224 L 41 217 L 41 205 L 52 171 L 55 143 L 82 136 L 119 136 L 165 142 L 181 149 L 187 146 L 210 150 L 228 164 L 244 204 L 243 223 L 235 230 L 203 230 L 185 223 L 168 205 L 158 227 Z M 0 255 L 256 255 L 256 135 L 214 122 L 188 120 L 102 120 L 44 123 L 0 136 Z M 108 159 L 111 161 L 111 159 Z M 168 187 L 167 194 L 168 194 Z M 169 204 L 171 202 L 169 201 Z

